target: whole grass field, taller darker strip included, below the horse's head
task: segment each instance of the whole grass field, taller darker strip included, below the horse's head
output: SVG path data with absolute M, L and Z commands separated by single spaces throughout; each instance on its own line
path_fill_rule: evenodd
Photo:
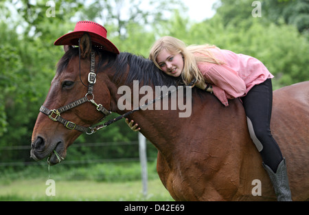
M 0 175 L 0 201 L 174 201 L 161 183 L 153 164 L 148 166 L 148 195 L 142 194 L 139 163 L 99 164 L 65 169 L 52 167 L 55 196 L 45 190 L 45 166 Z

